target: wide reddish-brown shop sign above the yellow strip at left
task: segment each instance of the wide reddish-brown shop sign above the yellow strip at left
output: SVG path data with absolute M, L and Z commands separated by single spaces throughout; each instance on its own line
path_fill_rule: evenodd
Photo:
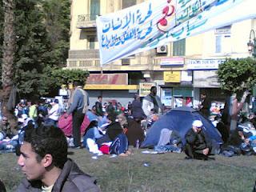
M 128 85 L 128 74 L 90 74 L 86 84 Z

